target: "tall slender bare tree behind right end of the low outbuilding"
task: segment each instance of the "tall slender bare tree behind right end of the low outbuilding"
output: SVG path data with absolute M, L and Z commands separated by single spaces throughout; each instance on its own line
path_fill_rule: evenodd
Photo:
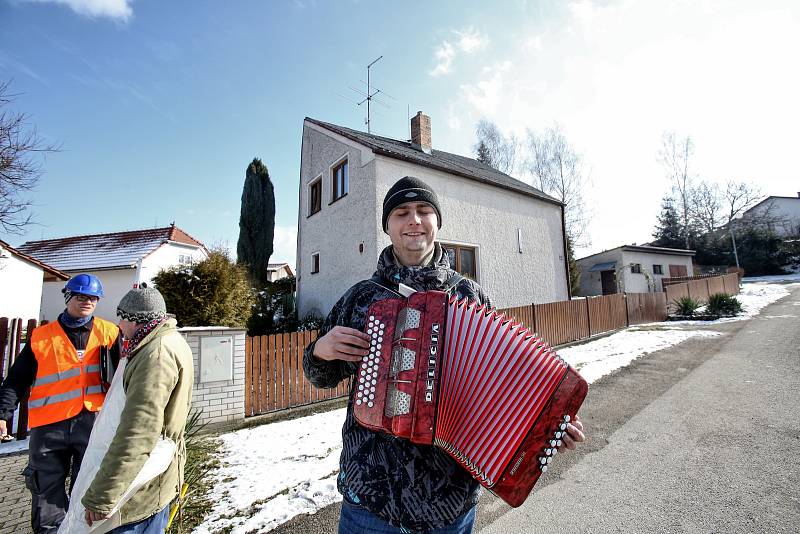
M 683 224 L 684 244 L 689 248 L 690 219 L 694 175 L 691 159 L 694 155 L 694 143 L 688 135 L 679 139 L 675 132 L 664 132 L 661 138 L 661 149 L 658 161 L 664 166 L 667 177 L 678 201 L 678 211 Z

